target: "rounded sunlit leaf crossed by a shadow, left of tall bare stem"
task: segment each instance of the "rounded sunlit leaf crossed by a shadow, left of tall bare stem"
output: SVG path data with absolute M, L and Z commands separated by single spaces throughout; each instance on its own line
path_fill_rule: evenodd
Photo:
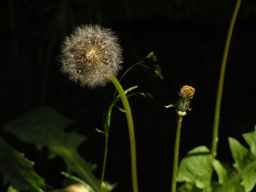
M 189 151 L 181 160 L 177 182 L 187 182 L 204 191 L 211 191 L 212 157 L 206 146 Z

